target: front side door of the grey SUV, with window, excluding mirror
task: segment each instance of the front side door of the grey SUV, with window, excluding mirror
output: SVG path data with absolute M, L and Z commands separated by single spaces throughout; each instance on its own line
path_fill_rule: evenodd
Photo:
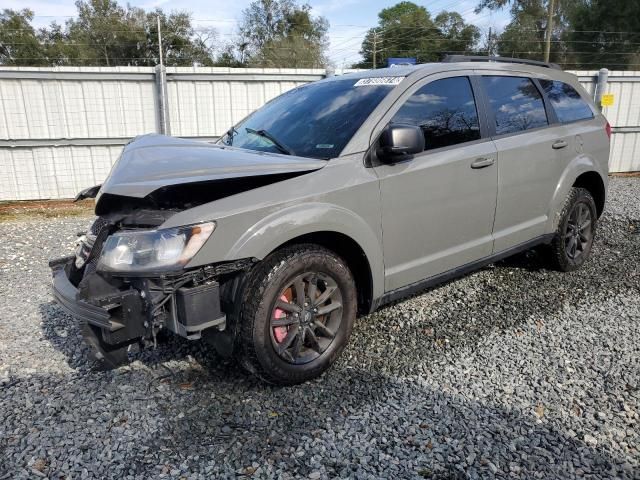
M 420 126 L 425 150 L 375 168 L 380 179 L 385 288 L 433 277 L 492 252 L 496 149 L 470 72 L 428 77 L 386 117 Z

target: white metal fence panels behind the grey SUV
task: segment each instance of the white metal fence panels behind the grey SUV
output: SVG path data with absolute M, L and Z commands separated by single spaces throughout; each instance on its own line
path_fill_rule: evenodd
M 0 68 L 0 201 L 70 198 L 107 176 L 132 137 L 213 139 L 318 69 Z M 593 92 L 597 72 L 574 72 Z M 611 171 L 640 170 L 640 72 L 611 72 Z M 166 121 L 163 121 L 163 112 Z M 166 123 L 165 123 L 166 122 Z M 165 126 L 166 125 L 166 126 Z

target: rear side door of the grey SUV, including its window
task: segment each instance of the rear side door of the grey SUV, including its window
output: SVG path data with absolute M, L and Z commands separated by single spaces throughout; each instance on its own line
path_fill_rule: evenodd
M 566 127 L 545 108 L 538 83 L 517 72 L 480 77 L 498 150 L 494 252 L 545 233 L 549 202 L 563 169 Z

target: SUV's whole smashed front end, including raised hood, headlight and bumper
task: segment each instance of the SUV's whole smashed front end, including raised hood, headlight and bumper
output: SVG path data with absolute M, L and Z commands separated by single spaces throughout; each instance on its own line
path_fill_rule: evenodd
M 164 135 L 137 137 L 101 186 L 78 194 L 77 200 L 96 198 L 98 219 L 79 238 L 75 255 L 50 262 L 54 296 L 80 320 L 107 366 L 126 360 L 129 345 L 155 345 L 162 330 L 188 339 L 206 336 L 218 352 L 230 354 L 234 334 L 225 312 L 235 308 L 240 274 L 254 259 L 220 262 L 226 258 L 220 252 L 210 264 L 190 268 L 216 222 L 162 225 L 205 204 L 212 205 L 207 216 L 214 219 L 217 200 L 325 164 Z

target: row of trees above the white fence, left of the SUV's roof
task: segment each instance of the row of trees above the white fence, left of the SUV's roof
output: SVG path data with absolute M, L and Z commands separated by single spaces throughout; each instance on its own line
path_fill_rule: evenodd
M 34 12 L 0 13 L 0 64 L 13 66 L 323 67 L 328 22 L 296 0 L 256 0 L 242 13 L 237 32 L 220 40 L 197 28 L 187 12 L 145 11 L 114 0 L 79 0 L 64 24 L 33 26 Z

